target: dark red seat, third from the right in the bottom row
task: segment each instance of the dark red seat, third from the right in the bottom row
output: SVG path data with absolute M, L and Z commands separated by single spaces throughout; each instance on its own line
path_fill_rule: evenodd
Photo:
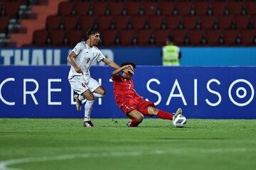
M 222 36 L 221 30 L 206 30 L 206 42 L 209 46 L 219 45 L 219 39 Z

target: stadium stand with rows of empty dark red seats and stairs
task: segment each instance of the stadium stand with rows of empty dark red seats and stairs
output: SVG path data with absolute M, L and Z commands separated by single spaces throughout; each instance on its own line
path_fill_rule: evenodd
M 86 39 L 91 27 L 114 35 L 110 40 L 102 35 L 105 46 L 162 46 L 170 34 L 180 46 L 253 46 L 255 8 L 253 0 L 4 0 L 0 46 L 75 45 L 75 40 Z M 53 30 L 61 30 L 61 41 Z M 47 38 L 38 39 L 40 31 Z

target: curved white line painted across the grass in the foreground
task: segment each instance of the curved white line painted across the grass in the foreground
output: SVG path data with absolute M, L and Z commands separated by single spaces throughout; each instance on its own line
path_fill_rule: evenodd
M 188 149 L 189 150 L 189 149 Z M 220 153 L 220 152 L 254 152 L 256 149 L 245 149 L 245 148 L 231 148 L 231 149 L 199 149 L 193 152 L 201 153 Z M 9 159 L 0 162 L 0 170 L 21 170 L 12 169 L 8 166 L 14 164 L 23 164 L 29 162 L 47 162 L 47 161 L 57 161 L 65 159 L 76 159 L 76 158 L 90 158 L 90 157 L 123 157 L 123 156 L 139 156 L 146 154 L 182 154 L 184 149 L 171 149 L 169 151 L 156 150 L 151 152 L 102 152 L 102 153 L 87 153 L 87 154 L 68 154 L 59 155 L 55 157 L 37 157 L 37 158 L 22 158 L 22 159 Z M 192 150 L 191 150 L 192 151 Z

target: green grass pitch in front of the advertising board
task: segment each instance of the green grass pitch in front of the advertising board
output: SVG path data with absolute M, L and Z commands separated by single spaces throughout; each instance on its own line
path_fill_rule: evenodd
M 0 170 L 255 169 L 256 120 L 0 119 Z

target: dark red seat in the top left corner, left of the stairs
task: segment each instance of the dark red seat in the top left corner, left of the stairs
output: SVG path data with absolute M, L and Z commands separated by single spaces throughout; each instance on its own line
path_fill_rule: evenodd
M 4 7 L 2 7 L 2 10 L 4 10 L 3 12 L 5 13 L 5 16 L 17 18 L 19 6 L 19 1 L 6 1 L 4 2 Z

